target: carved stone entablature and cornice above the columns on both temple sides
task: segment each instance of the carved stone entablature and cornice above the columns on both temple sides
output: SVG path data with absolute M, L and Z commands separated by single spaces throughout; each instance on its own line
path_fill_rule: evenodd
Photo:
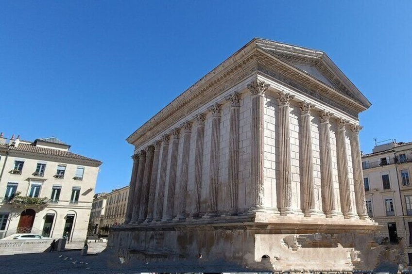
M 295 51 L 297 56 L 302 58 L 302 62 L 308 60 L 308 58 L 315 63 L 319 62 L 322 54 L 320 51 L 302 50 L 302 48 L 300 48 L 300 51 Z M 309 77 L 307 73 L 274 56 L 265 49 L 257 47 L 254 39 L 174 99 L 131 134 L 126 141 L 138 148 L 138 146 L 152 140 L 182 119 L 190 119 L 188 116 L 195 114 L 194 112 L 197 109 L 205 106 L 208 102 L 248 77 L 257 75 L 258 72 L 281 81 L 294 90 L 305 92 L 311 97 L 322 100 L 332 107 L 344 110 L 355 118 L 359 112 L 367 109 L 367 107 L 342 94 L 342 92 L 313 77 Z

